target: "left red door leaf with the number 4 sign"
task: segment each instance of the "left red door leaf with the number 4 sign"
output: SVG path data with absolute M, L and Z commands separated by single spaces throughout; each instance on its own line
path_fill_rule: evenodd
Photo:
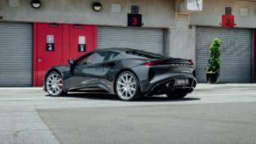
M 36 25 L 36 59 L 37 82 L 35 86 L 41 86 L 45 72 L 54 65 L 62 65 L 63 47 L 63 25 L 59 24 L 37 24 Z M 51 50 L 47 50 L 51 46 Z

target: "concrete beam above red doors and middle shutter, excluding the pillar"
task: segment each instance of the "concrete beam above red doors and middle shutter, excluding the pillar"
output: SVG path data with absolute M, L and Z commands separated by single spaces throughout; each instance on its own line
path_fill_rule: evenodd
M 3 17 L 0 21 L 127 26 L 130 5 L 137 4 L 144 26 L 175 26 L 175 2 L 172 0 L 97 0 L 103 6 L 99 12 L 91 8 L 95 0 L 41 0 L 40 9 L 33 9 L 30 0 L 15 1 L 19 2 L 18 7 L 10 7 L 9 0 L 0 0 L 0 16 Z M 121 11 L 113 12 L 112 4 L 121 4 Z

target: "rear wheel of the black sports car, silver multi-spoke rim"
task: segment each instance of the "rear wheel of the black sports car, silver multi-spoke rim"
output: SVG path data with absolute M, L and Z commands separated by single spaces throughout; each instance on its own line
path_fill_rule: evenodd
M 137 77 L 129 72 L 124 71 L 115 80 L 116 95 L 124 101 L 132 101 L 142 97 L 140 83 Z

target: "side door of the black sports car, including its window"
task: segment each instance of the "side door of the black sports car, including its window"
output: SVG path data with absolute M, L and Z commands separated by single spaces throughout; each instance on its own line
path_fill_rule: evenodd
M 77 61 L 73 74 L 69 78 L 69 88 L 94 88 L 99 84 L 99 77 L 102 76 L 102 62 L 106 52 L 96 51 L 84 56 Z

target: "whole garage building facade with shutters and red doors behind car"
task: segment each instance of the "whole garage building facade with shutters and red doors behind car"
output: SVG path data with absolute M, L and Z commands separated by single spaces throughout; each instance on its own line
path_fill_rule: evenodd
M 221 83 L 256 82 L 251 1 L 40 0 L 39 8 L 31 2 L 0 1 L 0 86 L 40 86 L 52 65 L 107 47 L 192 59 L 205 83 L 215 37 L 222 40 Z M 96 3 L 100 11 L 93 10 Z M 233 28 L 222 27 L 226 10 L 235 17 Z M 141 27 L 128 26 L 130 13 L 141 15 Z

